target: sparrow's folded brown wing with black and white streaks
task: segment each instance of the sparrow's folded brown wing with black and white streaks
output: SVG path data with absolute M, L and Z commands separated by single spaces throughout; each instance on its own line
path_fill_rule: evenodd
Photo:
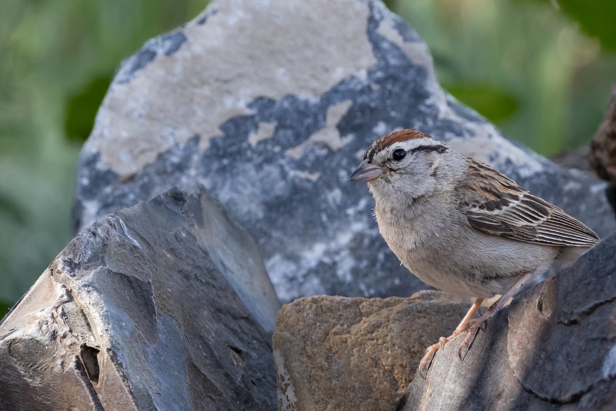
M 482 162 L 471 160 L 459 189 L 458 204 L 469 224 L 484 233 L 573 247 L 599 241 L 592 229 Z

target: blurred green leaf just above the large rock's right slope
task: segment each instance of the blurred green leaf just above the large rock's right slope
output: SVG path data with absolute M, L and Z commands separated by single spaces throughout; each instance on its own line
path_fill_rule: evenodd
M 489 84 L 449 84 L 445 89 L 490 121 L 508 119 L 516 113 L 518 100 Z

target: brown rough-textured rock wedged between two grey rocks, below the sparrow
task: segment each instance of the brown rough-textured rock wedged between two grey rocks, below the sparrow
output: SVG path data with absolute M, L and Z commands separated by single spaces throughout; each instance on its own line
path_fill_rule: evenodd
M 394 411 L 428 345 L 471 301 L 439 291 L 410 298 L 319 295 L 283 306 L 272 338 L 278 410 Z

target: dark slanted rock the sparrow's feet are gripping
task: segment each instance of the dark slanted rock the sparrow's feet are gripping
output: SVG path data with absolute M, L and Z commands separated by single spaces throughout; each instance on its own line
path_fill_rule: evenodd
M 415 378 L 404 411 L 616 409 L 616 234 L 514 298 L 458 359 L 460 337 Z

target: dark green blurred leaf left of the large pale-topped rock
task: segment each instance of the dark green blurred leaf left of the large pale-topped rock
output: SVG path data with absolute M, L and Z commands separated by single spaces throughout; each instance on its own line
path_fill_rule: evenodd
M 109 84 L 111 76 L 95 77 L 84 87 L 83 92 L 68 98 L 64 119 L 67 138 L 82 143 L 86 141 Z

